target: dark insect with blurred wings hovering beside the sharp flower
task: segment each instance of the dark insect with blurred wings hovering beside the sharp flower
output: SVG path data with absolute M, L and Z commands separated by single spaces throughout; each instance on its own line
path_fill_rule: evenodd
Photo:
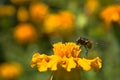
M 88 57 L 88 50 L 90 50 L 90 49 L 92 49 L 91 51 L 96 50 L 96 49 L 104 50 L 108 47 L 109 43 L 106 41 L 100 40 L 100 39 L 97 40 L 97 42 L 96 42 L 96 41 L 91 41 L 84 37 L 78 37 L 76 39 L 76 44 L 80 44 L 81 46 L 83 46 L 85 48 L 85 50 L 86 50 L 85 54 Z

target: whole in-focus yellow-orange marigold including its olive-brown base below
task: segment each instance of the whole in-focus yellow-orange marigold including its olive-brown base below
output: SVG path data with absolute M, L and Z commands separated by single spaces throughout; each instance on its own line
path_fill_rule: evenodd
M 51 70 L 50 80 L 81 80 L 81 70 L 97 71 L 102 67 L 102 60 L 98 56 L 81 58 L 81 51 L 81 46 L 74 42 L 58 42 L 53 44 L 53 55 L 35 53 L 31 67 L 37 66 L 40 72 Z

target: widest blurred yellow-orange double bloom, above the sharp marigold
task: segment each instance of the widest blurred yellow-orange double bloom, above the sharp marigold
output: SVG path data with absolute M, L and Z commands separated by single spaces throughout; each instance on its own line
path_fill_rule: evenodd
M 74 30 L 74 15 L 69 11 L 49 14 L 44 20 L 44 26 L 47 34 L 71 35 Z

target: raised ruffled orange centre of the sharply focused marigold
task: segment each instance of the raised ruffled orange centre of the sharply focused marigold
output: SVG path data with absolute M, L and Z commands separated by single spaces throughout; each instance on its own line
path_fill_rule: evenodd
M 53 45 L 54 54 L 60 57 L 78 57 L 80 54 L 80 46 L 69 42 L 62 44 L 61 42 Z

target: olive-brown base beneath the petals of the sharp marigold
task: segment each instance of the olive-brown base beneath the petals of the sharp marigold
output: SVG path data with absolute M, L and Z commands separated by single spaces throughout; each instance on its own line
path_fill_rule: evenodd
M 50 80 L 81 80 L 80 69 L 72 69 L 70 72 L 66 69 L 59 67 L 54 71 Z

